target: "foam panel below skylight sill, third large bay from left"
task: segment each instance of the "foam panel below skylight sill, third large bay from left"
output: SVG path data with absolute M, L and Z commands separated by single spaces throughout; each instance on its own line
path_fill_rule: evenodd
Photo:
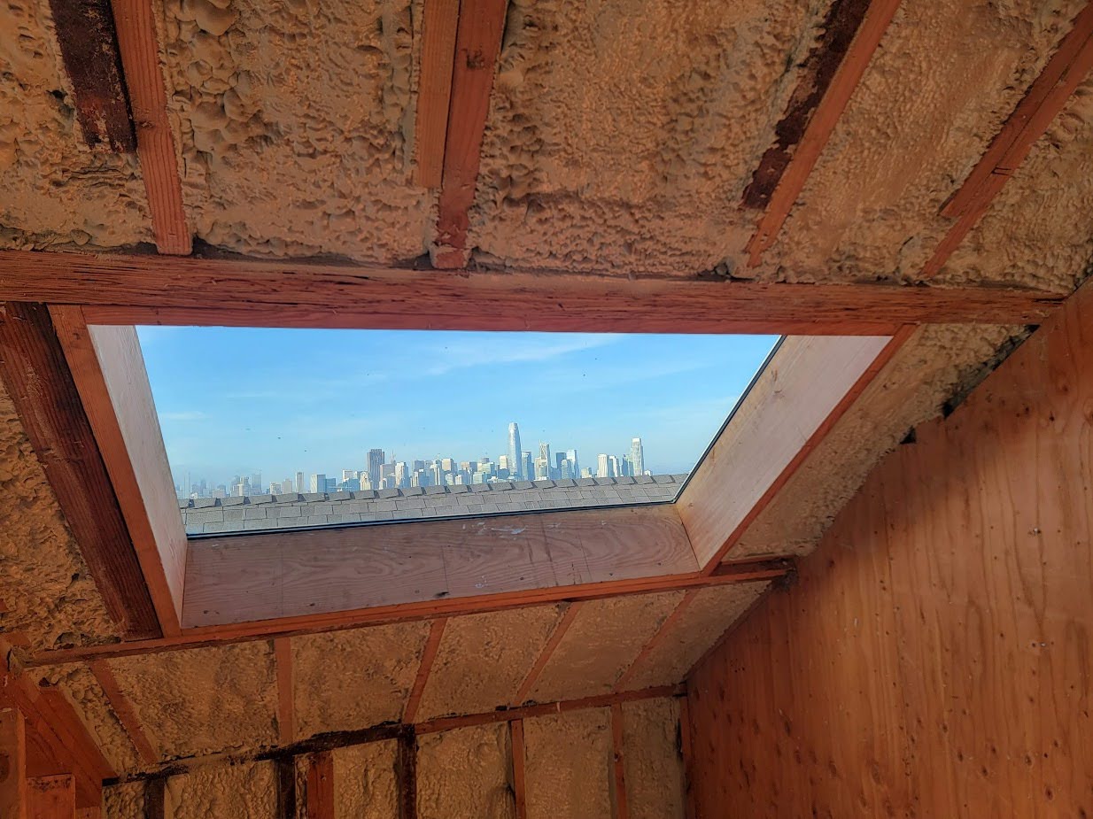
M 416 719 L 512 703 L 561 613 L 561 606 L 531 606 L 449 619 Z

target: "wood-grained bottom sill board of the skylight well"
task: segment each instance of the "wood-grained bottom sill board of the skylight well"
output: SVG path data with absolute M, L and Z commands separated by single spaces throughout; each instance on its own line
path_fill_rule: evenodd
M 672 507 L 498 515 L 190 545 L 187 628 L 695 572 Z

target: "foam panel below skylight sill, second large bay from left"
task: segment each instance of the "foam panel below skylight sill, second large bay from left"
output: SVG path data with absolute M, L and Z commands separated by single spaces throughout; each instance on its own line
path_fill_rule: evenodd
M 292 639 L 293 703 L 301 738 L 398 722 L 430 624 L 303 634 Z

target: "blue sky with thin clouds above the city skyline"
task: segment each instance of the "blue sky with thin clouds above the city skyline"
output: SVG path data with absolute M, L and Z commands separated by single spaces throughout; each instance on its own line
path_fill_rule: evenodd
M 493 460 L 640 436 L 646 468 L 693 467 L 774 336 L 139 328 L 177 482 L 340 475 L 365 452 Z

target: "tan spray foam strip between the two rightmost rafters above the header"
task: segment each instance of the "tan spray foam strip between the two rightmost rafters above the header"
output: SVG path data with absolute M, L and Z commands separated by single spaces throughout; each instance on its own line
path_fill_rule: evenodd
M 777 242 L 759 269 L 738 274 L 916 278 L 952 224 L 942 203 L 1082 5 L 902 3 Z

